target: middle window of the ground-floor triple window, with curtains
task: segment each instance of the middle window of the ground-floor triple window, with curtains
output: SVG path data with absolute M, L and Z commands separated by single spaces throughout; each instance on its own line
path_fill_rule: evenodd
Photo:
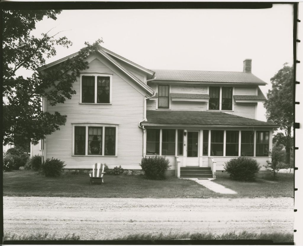
M 88 155 L 102 155 L 102 127 L 88 127 Z

